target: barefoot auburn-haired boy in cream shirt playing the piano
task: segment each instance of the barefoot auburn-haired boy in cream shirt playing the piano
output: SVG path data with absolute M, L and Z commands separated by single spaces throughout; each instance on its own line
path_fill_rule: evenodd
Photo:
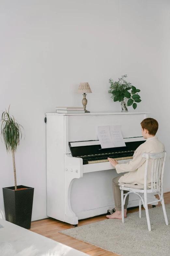
M 117 160 L 108 158 L 109 162 L 116 168 L 117 173 L 128 172 L 122 176 L 116 177 L 112 180 L 113 194 L 115 200 L 116 212 L 111 215 L 106 215 L 110 219 L 121 219 L 121 191 L 119 183 L 144 185 L 145 174 L 145 161 L 146 158 L 142 158 L 142 153 L 161 153 L 165 147 L 163 143 L 155 136 L 158 130 L 158 122 L 153 118 L 146 118 L 141 122 L 142 136 L 147 139 L 141 144 L 133 155 L 133 160 L 125 164 L 118 164 Z M 151 175 L 148 176 L 147 186 L 151 187 Z M 124 191 L 127 193 L 128 191 Z M 126 217 L 127 205 L 129 195 L 126 197 L 124 205 L 124 216 Z

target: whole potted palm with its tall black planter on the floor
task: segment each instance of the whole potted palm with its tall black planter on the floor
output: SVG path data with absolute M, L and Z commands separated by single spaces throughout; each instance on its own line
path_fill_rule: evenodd
M 9 106 L 10 107 L 10 106 Z M 12 153 L 15 186 L 3 188 L 6 220 L 25 229 L 31 228 L 34 188 L 17 186 L 15 153 L 22 138 L 23 128 L 8 112 L 2 113 L 1 140 L 4 139 L 7 153 Z

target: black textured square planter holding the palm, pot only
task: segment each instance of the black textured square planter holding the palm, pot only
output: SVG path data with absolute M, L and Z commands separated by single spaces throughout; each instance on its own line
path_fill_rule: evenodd
M 15 187 L 3 188 L 5 217 L 11 223 L 30 229 L 34 188 L 22 185 L 18 188 L 27 189 L 15 191 Z

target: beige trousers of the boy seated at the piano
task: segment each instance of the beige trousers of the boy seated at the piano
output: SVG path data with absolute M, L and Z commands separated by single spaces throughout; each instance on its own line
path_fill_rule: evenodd
M 121 190 L 120 190 L 120 186 L 118 185 L 119 179 L 120 179 L 120 176 L 118 176 L 112 180 L 113 195 L 114 195 L 115 206 L 116 206 L 117 211 L 121 211 Z M 124 194 L 126 194 L 128 192 L 129 191 L 124 191 Z M 124 209 L 127 209 L 128 200 L 129 200 L 129 195 L 126 197 Z

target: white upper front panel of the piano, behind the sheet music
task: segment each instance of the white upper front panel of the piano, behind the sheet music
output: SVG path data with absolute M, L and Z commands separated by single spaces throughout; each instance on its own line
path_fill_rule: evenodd
M 123 138 L 140 137 L 141 121 L 145 114 L 117 115 L 70 115 L 68 116 L 69 138 L 71 141 L 98 140 L 97 127 L 121 125 Z

